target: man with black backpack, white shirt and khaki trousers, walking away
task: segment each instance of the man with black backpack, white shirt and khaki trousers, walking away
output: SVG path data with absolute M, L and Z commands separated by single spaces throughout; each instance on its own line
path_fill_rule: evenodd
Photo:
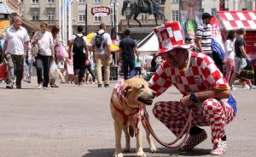
M 100 25 L 100 30 L 92 36 L 90 41 L 96 64 L 98 87 L 102 87 L 102 67 L 104 68 L 104 87 L 109 87 L 111 43 L 111 37 L 106 32 L 106 25 L 102 23 Z

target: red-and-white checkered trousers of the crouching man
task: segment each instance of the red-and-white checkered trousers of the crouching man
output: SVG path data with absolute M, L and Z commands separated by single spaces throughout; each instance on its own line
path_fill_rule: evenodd
M 154 104 L 153 114 L 178 136 L 189 116 L 189 108 L 177 101 L 158 102 Z M 225 135 L 224 126 L 234 117 L 234 109 L 229 104 L 209 98 L 193 107 L 192 126 L 211 126 L 212 143 L 218 143 Z

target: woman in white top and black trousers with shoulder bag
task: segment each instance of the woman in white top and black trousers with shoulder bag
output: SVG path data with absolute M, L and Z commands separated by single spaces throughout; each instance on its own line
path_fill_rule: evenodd
M 55 60 L 53 36 L 46 31 L 48 24 L 41 22 L 40 31 L 37 31 L 32 37 L 32 45 L 38 44 L 39 51 L 36 58 L 36 68 L 38 76 L 38 89 L 49 85 L 49 66 L 52 60 Z M 44 79 L 43 79 L 44 70 Z

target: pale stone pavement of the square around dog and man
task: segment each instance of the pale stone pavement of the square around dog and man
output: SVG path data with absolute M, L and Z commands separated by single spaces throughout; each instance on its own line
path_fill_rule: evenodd
M 109 157 L 114 152 L 113 120 L 109 99 L 115 82 L 110 87 L 98 88 L 71 84 L 59 88 L 37 89 L 35 78 L 22 89 L 5 89 L 0 84 L 0 156 L 1 157 Z M 256 90 L 232 91 L 238 102 L 235 121 L 227 127 L 227 157 L 256 157 Z M 154 102 L 179 100 L 181 94 L 173 87 Z M 155 132 L 166 142 L 173 139 L 160 121 L 156 121 L 148 107 Z M 209 127 L 205 127 L 210 135 Z M 211 138 L 189 153 L 166 149 L 155 143 L 160 153 L 148 153 L 143 132 L 143 146 L 148 157 L 211 156 Z M 124 141 L 124 140 L 123 140 Z M 131 139 L 131 147 L 136 147 Z M 135 155 L 135 149 L 131 157 Z

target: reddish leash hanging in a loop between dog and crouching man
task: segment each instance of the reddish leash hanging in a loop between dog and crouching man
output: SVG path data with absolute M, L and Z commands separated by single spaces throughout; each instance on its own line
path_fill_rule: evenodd
M 184 128 L 183 128 L 183 131 L 177 136 L 177 138 L 172 142 L 172 143 L 164 143 L 162 142 L 154 133 L 153 129 L 152 129 L 152 126 L 150 125 L 149 123 L 149 120 L 148 120 L 148 116 L 145 116 L 148 115 L 148 112 L 146 109 L 144 109 L 144 115 L 142 115 L 142 122 L 144 122 L 144 124 L 148 127 L 148 130 L 149 132 L 152 134 L 152 136 L 154 137 L 154 139 L 160 143 L 162 146 L 166 147 L 166 148 L 169 148 L 169 149 L 177 149 L 179 148 L 183 143 L 185 143 L 189 137 L 189 129 L 191 127 L 191 121 L 192 121 L 192 109 L 189 110 L 189 116 L 188 116 L 188 121 L 186 122 Z M 183 133 L 186 131 L 186 129 L 188 129 L 188 132 L 186 132 L 186 135 L 185 137 L 183 138 L 183 140 L 174 145 L 175 143 L 177 143 L 177 141 L 183 137 Z

